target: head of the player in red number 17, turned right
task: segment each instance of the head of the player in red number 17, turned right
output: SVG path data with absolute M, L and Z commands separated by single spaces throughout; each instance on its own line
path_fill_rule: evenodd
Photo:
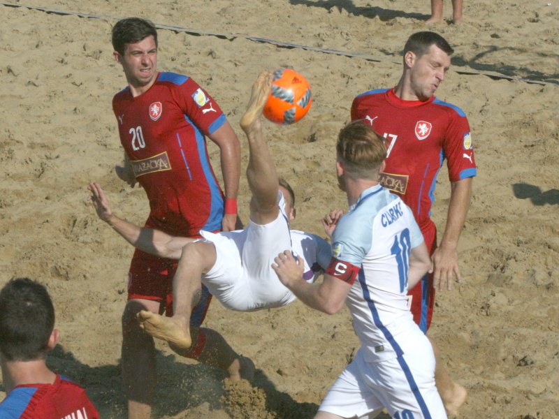
M 450 66 L 452 47 L 435 32 L 417 32 L 404 47 L 405 100 L 426 101 L 435 94 Z

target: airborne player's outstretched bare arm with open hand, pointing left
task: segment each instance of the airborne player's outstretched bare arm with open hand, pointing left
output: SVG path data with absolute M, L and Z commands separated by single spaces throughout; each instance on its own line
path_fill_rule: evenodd
M 184 245 L 194 241 L 194 239 L 189 237 L 173 237 L 160 230 L 142 228 L 120 219 L 115 214 L 112 214 L 105 193 L 98 183 L 90 183 L 87 189 L 92 192 L 89 200 L 92 201 L 99 218 L 124 237 L 126 242 L 129 242 L 133 247 L 137 247 L 141 251 L 161 258 L 179 259 Z

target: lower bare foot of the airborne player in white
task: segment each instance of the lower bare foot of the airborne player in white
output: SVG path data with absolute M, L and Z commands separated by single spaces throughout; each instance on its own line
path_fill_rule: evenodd
M 186 323 L 173 317 L 164 317 L 151 311 L 142 310 L 136 317 L 148 335 L 164 340 L 180 349 L 188 349 L 192 345 L 189 328 Z

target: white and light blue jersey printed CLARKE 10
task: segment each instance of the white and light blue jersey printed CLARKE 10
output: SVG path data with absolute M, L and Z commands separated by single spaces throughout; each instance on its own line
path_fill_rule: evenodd
M 361 268 L 346 304 L 370 361 L 402 355 L 409 331 L 417 328 L 407 281 L 410 251 L 421 243 L 412 211 L 380 185 L 363 191 L 337 223 L 333 257 Z

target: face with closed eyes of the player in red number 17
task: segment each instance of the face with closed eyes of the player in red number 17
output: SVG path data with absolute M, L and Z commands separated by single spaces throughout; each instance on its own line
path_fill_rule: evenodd
M 406 63 L 410 68 L 412 92 L 420 101 L 426 101 L 435 94 L 444 80 L 444 74 L 450 66 L 450 57 L 436 45 L 431 45 L 428 53 L 421 57 L 413 52 L 407 54 L 410 54 Z

